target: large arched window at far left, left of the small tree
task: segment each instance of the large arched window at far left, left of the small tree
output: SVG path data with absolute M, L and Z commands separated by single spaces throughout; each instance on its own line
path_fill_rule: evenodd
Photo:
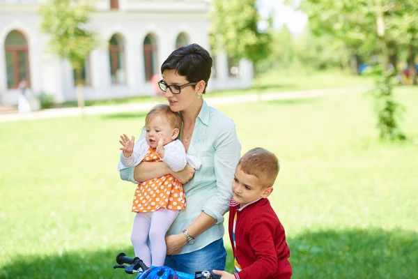
M 4 42 L 8 88 L 17 88 L 26 80 L 30 86 L 28 42 L 19 31 L 8 33 Z

